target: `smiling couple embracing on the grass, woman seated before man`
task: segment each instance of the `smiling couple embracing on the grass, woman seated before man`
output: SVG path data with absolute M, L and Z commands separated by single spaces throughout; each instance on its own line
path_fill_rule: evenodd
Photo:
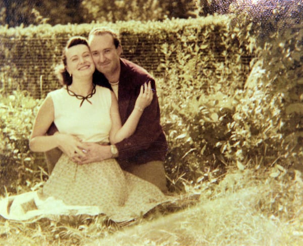
M 63 87 L 48 93 L 29 142 L 46 152 L 49 178 L 38 191 L 1 200 L 0 215 L 105 214 L 122 222 L 171 200 L 155 80 L 121 53 L 107 28 L 69 39 L 58 71 Z

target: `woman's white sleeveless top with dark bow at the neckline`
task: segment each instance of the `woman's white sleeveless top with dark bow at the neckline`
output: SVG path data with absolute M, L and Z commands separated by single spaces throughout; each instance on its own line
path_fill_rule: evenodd
M 65 88 L 49 92 L 55 109 L 55 125 L 60 133 L 72 134 L 83 142 L 109 143 L 112 127 L 110 108 L 111 91 L 96 86 L 96 93 L 88 100 L 81 100 L 68 94 Z

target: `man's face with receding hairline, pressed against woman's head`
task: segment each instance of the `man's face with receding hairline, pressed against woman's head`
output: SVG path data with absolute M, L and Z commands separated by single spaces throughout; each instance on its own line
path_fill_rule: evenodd
M 91 55 L 96 69 L 106 77 L 112 77 L 120 72 L 121 46 L 114 45 L 111 34 L 93 36 L 89 43 Z

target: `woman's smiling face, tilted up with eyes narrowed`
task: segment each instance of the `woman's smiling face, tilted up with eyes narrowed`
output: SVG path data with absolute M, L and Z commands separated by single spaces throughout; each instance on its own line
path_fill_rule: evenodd
M 95 66 L 88 46 L 78 44 L 66 50 L 66 69 L 73 78 L 93 74 Z

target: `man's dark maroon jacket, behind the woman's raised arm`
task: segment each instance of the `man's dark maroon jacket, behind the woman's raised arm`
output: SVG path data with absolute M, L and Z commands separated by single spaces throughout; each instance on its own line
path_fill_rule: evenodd
M 132 112 L 140 92 L 140 86 L 146 81 L 151 81 L 154 97 L 150 105 L 144 109 L 135 133 L 116 144 L 119 151 L 118 161 L 121 166 L 130 163 L 143 164 L 148 161 L 164 161 L 168 146 L 160 125 L 160 108 L 155 80 L 146 70 L 129 60 L 120 58 L 120 64 L 118 104 L 122 124 Z M 102 74 L 96 73 L 94 75 L 94 83 L 111 89 L 108 80 Z

